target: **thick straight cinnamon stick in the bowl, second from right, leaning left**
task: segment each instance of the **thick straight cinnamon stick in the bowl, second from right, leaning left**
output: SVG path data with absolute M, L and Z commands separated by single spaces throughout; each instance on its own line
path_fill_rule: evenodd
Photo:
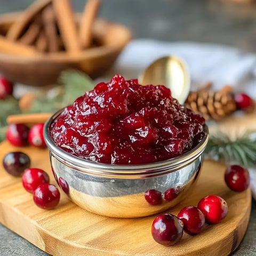
M 69 0 L 52 0 L 60 33 L 67 52 L 77 54 L 80 51 L 74 13 Z

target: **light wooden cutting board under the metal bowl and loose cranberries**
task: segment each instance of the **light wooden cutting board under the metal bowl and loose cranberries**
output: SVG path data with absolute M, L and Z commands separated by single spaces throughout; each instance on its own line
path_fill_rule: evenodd
M 31 147 L 15 148 L 0 144 L 0 161 L 6 153 L 21 150 L 31 158 L 31 167 L 51 173 L 49 152 Z M 223 181 L 225 166 L 205 161 L 202 174 L 190 196 L 169 212 L 177 214 L 183 206 L 196 205 L 199 199 L 217 194 L 226 199 L 227 217 L 218 225 L 207 225 L 201 234 L 183 235 L 179 243 L 164 247 L 151 237 L 154 216 L 115 219 L 87 212 L 71 203 L 62 193 L 57 209 L 46 211 L 34 205 L 20 178 L 7 174 L 0 166 L 0 222 L 52 255 L 68 256 L 224 256 L 241 242 L 250 218 L 251 191 L 235 193 Z M 17 245 L 18 246 L 18 245 Z

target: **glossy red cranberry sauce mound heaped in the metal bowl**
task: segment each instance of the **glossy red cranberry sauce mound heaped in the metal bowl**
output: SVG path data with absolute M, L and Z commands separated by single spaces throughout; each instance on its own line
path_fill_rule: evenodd
M 66 107 L 51 126 L 55 144 L 108 164 L 145 164 L 179 156 L 205 135 L 202 116 L 182 107 L 163 85 L 120 75 Z

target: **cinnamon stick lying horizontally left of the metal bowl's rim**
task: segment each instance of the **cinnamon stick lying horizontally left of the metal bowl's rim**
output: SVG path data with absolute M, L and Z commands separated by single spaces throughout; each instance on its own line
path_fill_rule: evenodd
M 37 124 L 45 123 L 51 116 L 51 113 L 10 115 L 7 117 L 6 121 L 8 124 Z

